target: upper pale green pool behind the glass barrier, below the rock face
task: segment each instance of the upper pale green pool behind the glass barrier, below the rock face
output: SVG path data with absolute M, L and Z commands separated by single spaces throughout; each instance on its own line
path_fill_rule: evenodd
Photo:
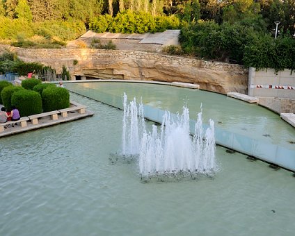
M 99 94 L 122 98 L 126 92 L 130 100 L 136 97 L 145 105 L 175 113 L 181 113 L 182 106 L 187 105 L 191 119 L 196 119 L 202 105 L 203 120 L 213 119 L 217 128 L 295 150 L 295 128 L 280 119 L 280 115 L 223 94 L 146 83 L 71 83 L 66 86 L 94 99 L 99 98 Z

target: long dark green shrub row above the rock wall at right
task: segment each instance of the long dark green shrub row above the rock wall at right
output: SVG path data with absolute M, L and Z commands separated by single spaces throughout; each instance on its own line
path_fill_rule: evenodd
M 275 39 L 250 26 L 198 21 L 182 28 L 180 43 L 184 53 L 200 58 L 256 69 L 295 69 L 295 40 L 289 34 Z

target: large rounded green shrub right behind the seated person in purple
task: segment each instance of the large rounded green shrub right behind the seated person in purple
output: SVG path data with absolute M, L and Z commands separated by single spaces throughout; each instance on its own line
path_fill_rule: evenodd
M 19 90 L 13 93 L 11 104 L 17 107 L 21 117 L 42 113 L 41 95 L 32 90 Z

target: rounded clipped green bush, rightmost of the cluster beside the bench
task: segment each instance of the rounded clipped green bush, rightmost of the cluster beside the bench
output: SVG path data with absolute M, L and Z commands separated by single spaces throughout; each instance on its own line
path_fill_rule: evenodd
M 70 107 L 70 94 L 63 87 L 47 87 L 42 92 L 44 112 Z

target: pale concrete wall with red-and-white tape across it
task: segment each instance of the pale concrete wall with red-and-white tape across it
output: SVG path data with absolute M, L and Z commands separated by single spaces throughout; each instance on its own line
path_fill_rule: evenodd
M 289 69 L 255 71 L 249 68 L 248 95 L 260 99 L 259 104 L 278 113 L 295 112 L 295 72 Z

